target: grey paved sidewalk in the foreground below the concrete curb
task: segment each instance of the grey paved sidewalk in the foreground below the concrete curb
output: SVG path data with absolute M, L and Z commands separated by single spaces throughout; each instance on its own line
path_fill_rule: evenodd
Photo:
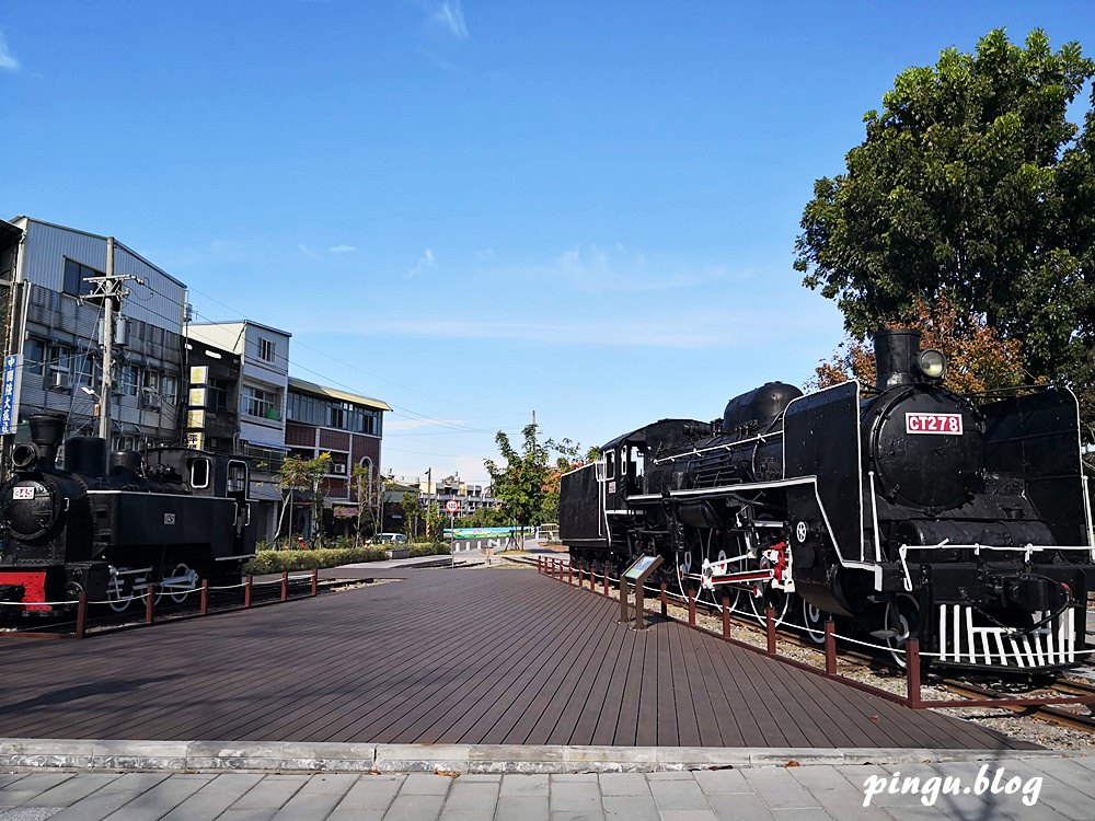
M 925 803 L 925 796 L 946 788 L 948 777 L 949 789 L 958 794 L 938 795 Z M 873 795 L 865 807 L 867 791 Z M 572 775 L 0 774 L 0 821 L 1087 821 L 1093 817 L 1095 756 L 1083 753 L 992 762 Z

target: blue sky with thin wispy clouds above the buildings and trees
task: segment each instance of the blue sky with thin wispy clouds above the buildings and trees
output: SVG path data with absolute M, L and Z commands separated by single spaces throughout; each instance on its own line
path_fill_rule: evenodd
M 486 478 L 802 384 L 794 241 L 895 76 L 1090 2 L 48 0 L 0 7 L 0 215 L 114 234 L 200 319 L 377 396 L 396 474 Z

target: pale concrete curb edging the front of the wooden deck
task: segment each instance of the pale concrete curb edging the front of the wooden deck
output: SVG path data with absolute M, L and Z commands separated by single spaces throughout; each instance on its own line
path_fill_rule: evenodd
M 1095 758 L 1095 751 L 858 748 L 520 747 L 0 738 L 0 770 L 262 773 L 653 773 L 912 764 L 1001 758 Z

